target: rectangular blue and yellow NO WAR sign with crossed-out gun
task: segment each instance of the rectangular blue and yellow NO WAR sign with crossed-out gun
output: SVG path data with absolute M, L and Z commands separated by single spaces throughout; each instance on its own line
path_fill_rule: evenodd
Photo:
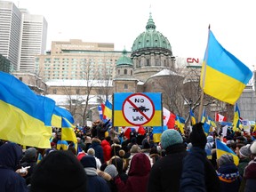
M 137 110 L 136 112 L 136 108 L 132 109 L 132 105 L 129 106 L 129 101 L 128 98 L 132 97 L 132 95 L 138 94 L 140 96 L 143 97 L 143 95 L 145 95 L 145 97 L 148 97 L 149 100 L 152 101 L 153 105 L 154 105 L 154 109 L 153 108 L 149 108 L 147 107 L 147 111 L 140 111 Z M 134 96 L 135 97 L 135 96 Z M 162 126 L 163 124 L 163 113 L 162 113 L 162 95 L 160 92 L 141 92 L 141 93 L 132 93 L 132 92 L 116 92 L 114 93 L 114 105 L 113 105 L 113 109 L 114 109 L 114 117 L 113 117 L 113 121 L 114 121 L 114 126 L 139 126 L 139 125 L 143 125 L 143 126 Z M 127 107 L 126 109 L 125 106 L 127 106 L 126 104 L 128 104 L 129 107 Z M 144 104 L 139 104 L 138 106 L 142 107 L 145 106 Z M 138 107 L 137 106 L 137 107 Z M 133 106 L 134 107 L 134 106 Z M 135 110 L 134 110 L 135 109 Z M 125 110 L 125 112 L 124 112 Z M 133 111 L 134 110 L 134 111 Z M 143 109 L 141 109 L 143 110 Z M 153 116 L 150 116 L 151 119 L 148 120 L 148 122 L 146 122 L 145 124 L 140 124 L 140 120 L 138 121 L 134 121 L 134 124 L 132 124 L 129 120 L 130 119 L 132 121 L 132 118 L 134 117 L 134 119 L 136 120 L 136 116 L 135 114 L 139 114 L 140 117 L 145 117 L 145 114 L 148 113 L 148 111 L 152 112 L 154 110 L 154 113 L 151 114 Z M 127 116 L 124 115 L 124 113 L 126 113 Z M 134 114 L 134 116 L 133 116 Z M 144 114 L 144 116 L 143 116 Z M 147 119 L 147 116 L 144 118 Z M 137 124 L 138 123 L 138 124 Z

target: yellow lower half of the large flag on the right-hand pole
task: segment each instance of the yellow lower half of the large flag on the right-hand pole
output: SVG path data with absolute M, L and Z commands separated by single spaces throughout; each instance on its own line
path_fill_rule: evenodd
M 204 71 L 204 64 L 202 71 Z M 203 86 L 203 73 L 201 73 L 200 85 L 201 87 Z M 206 66 L 204 92 L 218 100 L 234 105 L 243 92 L 245 85 L 214 68 Z

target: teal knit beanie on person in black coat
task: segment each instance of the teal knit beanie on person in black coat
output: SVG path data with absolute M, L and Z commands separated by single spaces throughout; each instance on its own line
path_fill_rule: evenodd
M 163 132 L 161 135 L 161 146 L 166 149 L 169 146 L 182 143 L 183 139 L 180 135 L 180 132 L 168 129 Z

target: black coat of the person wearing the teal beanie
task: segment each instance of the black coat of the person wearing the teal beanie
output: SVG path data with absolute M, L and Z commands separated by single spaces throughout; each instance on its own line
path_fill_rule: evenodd
M 157 160 L 151 169 L 148 192 L 179 191 L 182 162 L 187 154 L 183 144 L 166 148 L 166 156 Z M 206 191 L 220 191 L 220 181 L 207 158 L 205 158 L 204 173 Z

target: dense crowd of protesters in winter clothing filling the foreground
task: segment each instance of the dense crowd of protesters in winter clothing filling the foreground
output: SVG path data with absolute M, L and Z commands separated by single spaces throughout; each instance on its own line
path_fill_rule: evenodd
M 256 141 L 250 132 L 205 135 L 197 123 L 185 135 L 168 129 L 155 143 L 151 131 L 124 135 L 109 121 L 95 121 L 76 128 L 77 143 L 61 140 L 55 128 L 47 149 L 1 140 L 0 191 L 256 191 Z M 215 140 L 234 151 L 238 165 L 228 154 L 217 159 Z

